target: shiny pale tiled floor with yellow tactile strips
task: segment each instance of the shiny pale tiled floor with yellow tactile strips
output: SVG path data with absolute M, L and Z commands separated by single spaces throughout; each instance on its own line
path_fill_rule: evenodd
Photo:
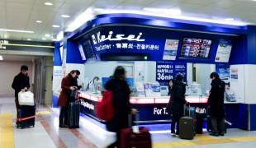
M 36 125 L 30 128 L 16 127 L 16 109 L 13 97 L 0 97 L 0 147 L 106 147 L 115 140 L 115 134 L 107 132 L 103 125 L 92 118 L 80 117 L 80 128 L 59 128 L 59 109 L 36 106 Z M 164 125 L 159 125 L 164 126 Z M 166 125 L 165 125 L 166 126 Z M 169 126 L 169 125 L 168 125 Z M 149 127 L 153 129 L 153 127 Z M 168 129 L 164 127 L 163 129 Z M 169 147 L 217 147 L 246 148 L 256 146 L 256 132 L 228 129 L 225 136 L 209 136 L 207 132 L 197 134 L 194 140 L 182 140 L 171 136 L 168 130 L 150 131 L 154 148 Z

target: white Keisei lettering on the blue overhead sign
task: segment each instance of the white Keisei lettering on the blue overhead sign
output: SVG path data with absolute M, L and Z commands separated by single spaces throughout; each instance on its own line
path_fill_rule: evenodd
M 129 40 L 129 41 L 137 41 L 137 42 L 144 42 L 145 39 L 140 39 L 142 33 L 140 32 L 138 35 L 123 35 L 123 34 L 116 34 L 114 35 L 113 31 L 109 31 L 107 37 L 106 35 L 101 35 L 101 32 L 97 32 L 96 35 L 92 35 L 92 42 L 93 44 L 99 44 L 103 41 L 121 41 L 121 40 Z

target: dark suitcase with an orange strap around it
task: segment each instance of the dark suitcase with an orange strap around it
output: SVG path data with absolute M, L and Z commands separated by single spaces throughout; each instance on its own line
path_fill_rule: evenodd
M 20 105 L 17 113 L 17 128 L 35 127 L 36 104 L 34 106 Z

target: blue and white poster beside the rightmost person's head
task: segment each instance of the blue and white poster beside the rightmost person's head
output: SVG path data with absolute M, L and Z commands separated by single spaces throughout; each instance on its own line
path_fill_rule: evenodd
M 219 74 L 220 79 L 225 81 L 225 84 L 230 86 L 230 64 L 228 63 L 217 63 L 216 72 Z

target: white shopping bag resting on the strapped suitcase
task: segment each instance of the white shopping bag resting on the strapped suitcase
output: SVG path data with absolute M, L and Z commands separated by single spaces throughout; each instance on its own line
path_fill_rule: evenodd
M 31 91 L 20 91 L 18 94 L 19 104 L 20 105 L 34 105 L 34 94 Z

